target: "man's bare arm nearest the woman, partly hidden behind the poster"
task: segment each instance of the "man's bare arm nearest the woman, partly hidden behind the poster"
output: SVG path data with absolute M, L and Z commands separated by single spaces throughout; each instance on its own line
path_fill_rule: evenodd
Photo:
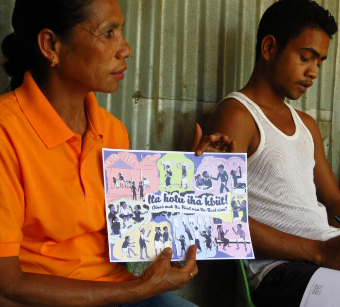
M 251 156 L 259 142 L 259 132 L 251 114 L 234 99 L 222 102 L 210 117 L 205 134 L 220 132 L 235 140 L 237 152 Z M 310 261 L 340 270 L 340 236 L 328 241 L 290 235 L 249 217 L 255 257 Z M 327 252 L 328 251 L 328 252 Z

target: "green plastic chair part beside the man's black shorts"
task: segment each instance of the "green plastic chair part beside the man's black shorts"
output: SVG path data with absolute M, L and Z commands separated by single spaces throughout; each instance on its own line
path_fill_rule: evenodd
M 250 296 L 246 271 L 242 260 L 236 260 L 237 264 L 237 288 L 235 307 L 255 307 Z

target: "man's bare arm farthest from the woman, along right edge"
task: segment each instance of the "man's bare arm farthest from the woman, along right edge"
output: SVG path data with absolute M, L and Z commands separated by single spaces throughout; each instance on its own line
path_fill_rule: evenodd
M 318 200 L 326 207 L 328 223 L 340 227 L 334 215 L 340 216 L 340 190 L 323 148 L 323 140 L 317 123 L 309 115 L 298 112 L 314 141 L 314 183 Z

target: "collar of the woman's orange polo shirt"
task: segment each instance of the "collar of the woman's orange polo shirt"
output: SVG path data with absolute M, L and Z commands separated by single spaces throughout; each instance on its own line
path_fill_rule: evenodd
M 46 147 L 57 146 L 75 135 L 38 88 L 31 72 L 25 73 L 23 84 L 14 92 L 20 108 Z M 95 133 L 102 138 L 102 125 L 99 120 L 98 103 L 94 93 L 88 93 L 84 102 L 88 117 L 88 128 L 93 128 Z

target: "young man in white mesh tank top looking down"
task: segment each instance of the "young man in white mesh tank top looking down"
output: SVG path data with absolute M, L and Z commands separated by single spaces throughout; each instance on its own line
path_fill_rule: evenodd
M 248 153 L 255 260 L 245 264 L 256 306 L 299 306 L 319 267 L 338 274 L 330 284 L 340 289 L 340 224 L 333 218 L 340 216 L 339 187 L 317 123 L 285 103 L 313 84 L 336 32 L 334 18 L 313 1 L 274 3 L 259 25 L 249 82 L 207 124 L 206 134 L 226 134 L 236 151 Z M 320 306 L 338 306 L 339 292 L 330 290 Z M 301 304 L 312 306 L 306 295 Z

